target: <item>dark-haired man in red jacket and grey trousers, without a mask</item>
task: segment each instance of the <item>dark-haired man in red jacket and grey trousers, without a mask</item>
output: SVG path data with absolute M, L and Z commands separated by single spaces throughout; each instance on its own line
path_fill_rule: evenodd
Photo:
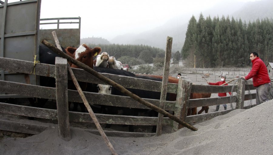
M 253 86 L 256 88 L 256 104 L 259 105 L 268 101 L 267 95 L 270 88 L 270 78 L 268 76 L 265 63 L 259 58 L 258 53 L 252 52 L 250 54 L 252 62 L 252 69 L 247 76 L 243 76 L 245 80 L 252 78 Z

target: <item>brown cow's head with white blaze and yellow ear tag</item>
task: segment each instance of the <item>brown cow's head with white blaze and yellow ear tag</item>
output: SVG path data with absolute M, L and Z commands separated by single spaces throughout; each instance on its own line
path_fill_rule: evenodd
M 86 44 L 82 44 L 79 48 L 67 47 L 66 53 L 76 60 L 86 64 L 87 66 L 93 68 L 93 56 L 99 54 L 101 49 L 99 47 L 89 48 Z M 72 68 L 79 68 L 78 66 L 72 64 Z

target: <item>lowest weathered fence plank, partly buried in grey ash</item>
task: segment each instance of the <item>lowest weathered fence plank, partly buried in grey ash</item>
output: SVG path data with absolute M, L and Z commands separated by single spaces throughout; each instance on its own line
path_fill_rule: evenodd
M 18 133 L 27 133 L 27 134 L 39 134 L 45 130 L 56 128 L 56 124 L 51 123 L 42 123 L 38 124 L 33 121 L 24 121 L 16 122 L 9 120 L 0 119 L 0 130 L 18 132 Z M 72 129 L 79 129 L 71 127 Z M 99 131 L 95 129 L 82 129 L 86 132 L 99 135 Z M 149 137 L 154 136 L 155 133 L 132 133 L 132 132 L 121 132 L 121 131 L 107 131 L 104 130 L 106 136 L 115 136 L 115 137 Z

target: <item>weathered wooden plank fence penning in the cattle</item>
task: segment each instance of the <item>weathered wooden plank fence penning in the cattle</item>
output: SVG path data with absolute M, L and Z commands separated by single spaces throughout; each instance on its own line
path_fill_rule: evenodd
M 56 82 L 62 81 L 58 80 L 56 77 L 56 66 L 49 64 L 36 64 L 35 66 L 35 75 L 40 76 L 49 76 L 57 78 Z M 15 60 L 9 58 L 0 57 L 0 69 L 5 71 L 14 71 L 25 74 L 31 74 L 33 70 L 33 62 Z M 72 68 L 78 81 L 96 83 L 96 84 L 105 84 L 102 81 L 95 78 L 93 75 L 87 73 L 81 69 Z M 118 76 L 113 74 L 103 74 L 107 78 L 119 83 L 125 88 L 135 88 L 149 91 L 161 91 L 161 82 L 151 81 L 145 79 L 131 78 L 125 76 Z M 67 75 L 66 75 L 67 76 Z M 69 79 L 69 77 L 68 77 Z M 64 82 L 64 81 L 62 81 Z M 56 100 L 58 97 L 56 88 L 41 87 L 37 85 L 22 84 L 16 82 L 0 81 L 0 92 L 5 92 L 7 94 L 16 94 L 24 95 L 35 98 L 48 98 Z M 57 84 L 58 85 L 58 84 Z M 191 86 L 191 87 L 187 87 Z M 253 85 L 249 85 L 251 90 L 254 89 Z M 214 118 L 218 115 L 224 115 L 231 110 L 225 110 L 221 112 L 212 112 L 201 115 L 187 116 L 187 108 L 201 107 L 201 106 L 212 106 L 225 104 L 230 102 L 230 97 L 221 97 L 221 98 L 204 98 L 204 99 L 190 99 L 189 93 L 218 93 L 218 92 L 230 92 L 232 86 L 209 86 L 209 85 L 196 85 L 192 84 L 191 81 L 186 81 L 180 79 L 179 84 L 170 84 L 168 83 L 167 92 L 175 93 L 177 95 L 177 100 L 175 102 L 166 101 L 165 110 L 174 111 L 177 117 L 181 118 L 185 122 L 190 124 L 194 122 L 202 122 L 211 118 Z M 238 89 L 237 89 L 238 88 Z M 249 100 L 250 96 L 252 99 L 256 97 L 256 94 L 244 95 L 245 84 L 244 81 L 239 81 L 238 85 L 235 86 L 234 91 L 237 95 L 232 96 L 234 101 L 236 101 L 236 108 L 244 108 L 244 101 Z M 69 102 L 83 102 L 77 91 L 68 90 L 67 91 L 67 100 Z M 147 109 L 144 105 L 136 102 L 130 97 L 125 96 L 116 96 L 116 95 L 105 95 L 92 92 L 84 92 L 89 104 L 97 105 L 111 105 L 118 107 L 129 107 L 129 108 L 143 108 Z M 99 98 L 99 100 L 98 100 Z M 62 99 L 66 100 L 66 99 Z M 154 99 L 145 99 L 148 102 L 159 106 L 159 100 Z M 59 102 L 57 104 L 67 104 L 65 102 Z M 67 106 L 67 105 L 64 105 Z M 58 120 L 57 114 L 59 111 L 54 109 L 45 109 L 45 108 L 34 108 L 21 105 L 12 105 L 7 103 L 0 102 L 0 112 L 13 115 L 22 115 L 28 117 L 36 117 L 43 119 Z M 96 117 L 99 123 L 108 123 L 108 124 L 125 124 L 125 125 L 157 125 L 157 117 L 139 117 L 139 116 L 124 116 L 124 115 L 106 115 L 106 114 L 96 114 Z M 58 120 L 59 122 L 61 120 Z M 65 121 L 65 120 L 64 120 Z M 63 121 L 63 122 L 64 122 Z M 81 112 L 69 112 L 69 121 L 70 122 L 81 122 L 81 123 L 93 123 L 88 113 Z M 32 124 L 29 122 L 16 122 L 8 120 L 0 120 L 0 130 L 7 130 L 20 133 L 29 133 L 37 134 L 42 132 L 45 129 L 50 129 L 56 127 L 57 125 L 51 124 Z M 163 126 L 171 126 L 173 131 L 176 131 L 180 127 L 178 123 L 174 122 L 169 118 L 163 118 Z M 59 126 L 60 128 L 60 126 Z M 99 134 L 97 130 L 85 129 L 88 132 Z M 106 131 L 107 136 L 153 136 L 155 133 L 129 133 L 121 131 Z

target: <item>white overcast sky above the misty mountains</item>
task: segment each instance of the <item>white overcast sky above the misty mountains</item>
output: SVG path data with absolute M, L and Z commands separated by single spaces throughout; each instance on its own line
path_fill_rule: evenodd
M 8 0 L 14 1 L 18 0 Z M 111 40 L 117 35 L 153 29 L 183 14 L 200 13 L 221 1 L 224 0 L 42 0 L 40 17 L 79 16 L 81 38 L 94 36 Z M 45 29 L 43 26 L 40 28 Z

